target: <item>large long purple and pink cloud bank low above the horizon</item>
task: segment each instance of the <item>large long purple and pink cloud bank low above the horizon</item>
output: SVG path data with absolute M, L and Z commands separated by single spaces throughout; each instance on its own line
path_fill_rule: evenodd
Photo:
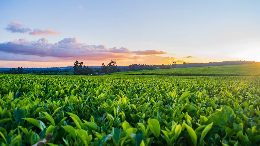
M 57 62 L 57 61 L 106 61 L 106 60 L 126 60 L 133 56 L 152 55 L 154 58 L 163 51 L 145 50 L 131 51 L 128 48 L 106 48 L 105 45 L 87 45 L 79 43 L 77 38 L 64 38 L 58 43 L 48 43 L 46 38 L 38 41 L 28 41 L 26 38 L 0 43 L 0 60 L 9 61 L 37 61 L 37 62 Z M 137 55 L 138 54 L 138 55 Z M 157 57 L 158 58 L 158 57 Z M 147 56 L 139 56 L 144 61 L 151 60 Z M 161 58 L 160 58 L 161 59 Z M 160 59 L 154 59 L 160 61 Z M 173 57 L 164 58 L 174 60 Z M 153 60 L 153 59 L 152 59 Z M 148 63 L 147 61 L 146 63 Z M 151 63 L 150 63 L 151 64 Z

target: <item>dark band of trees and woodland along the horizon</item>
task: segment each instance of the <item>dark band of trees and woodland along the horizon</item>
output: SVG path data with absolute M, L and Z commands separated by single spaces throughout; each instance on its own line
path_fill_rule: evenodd
M 76 70 L 75 70 L 75 64 L 77 65 Z M 138 70 L 154 70 L 154 69 L 170 69 L 170 68 L 186 68 L 186 67 L 209 67 L 209 66 L 239 65 L 239 64 L 259 64 L 259 62 L 255 62 L 255 61 L 222 61 L 222 62 L 208 62 L 208 63 L 185 63 L 185 62 L 180 63 L 180 61 L 177 61 L 177 63 L 173 62 L 172 64 L 168 64 L 168 65 L 165 65 L 165 64 L 161 64 L 161 65 L 131 64 L 128 66 L 117 66 L 116 62 L 111 60 L 108 63 L 108 65 L 105 65 L 104 63 L 102 63 L 101 66 L 84 67 L 83 62 L 81 62 L 81 71 L 80 71 L 80 69 L 79 69 L 80 63 L 76 61 L 74 63 L 74 66 L 71 66 L 71 67 L 24 68 L 23 70 L 20 70 L 20 71 L 19 71 L 19 68 L 0 68 L 0 73 L 2 73 L 2 74 L 63 75 L 64 72 L 66 72 L 66 73 L 70 72 L 70 73 L 68 73 L 69 75 L 70 74 L 88 75 L 88 74 L 93 74 L 93 71 L 96 74 L 97 73 L 110 74 L 113 72 L 122 72 L 122 71 L 138 71 Z M 22 69 L 22 67 L 21 67 L 21 69 Z M 91 69 L 93 69 L 93 71 Z

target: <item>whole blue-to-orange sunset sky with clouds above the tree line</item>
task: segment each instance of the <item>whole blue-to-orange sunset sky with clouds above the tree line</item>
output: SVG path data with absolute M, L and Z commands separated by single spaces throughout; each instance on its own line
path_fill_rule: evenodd
M 260 1 L 0 1 L 0 67 L 260 62 Z

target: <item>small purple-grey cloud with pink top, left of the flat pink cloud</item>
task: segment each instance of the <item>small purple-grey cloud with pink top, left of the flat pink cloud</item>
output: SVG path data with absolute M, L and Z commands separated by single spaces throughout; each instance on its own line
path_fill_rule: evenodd
M 23 27 L 22 23 L 20 23 L 18 21 L 10 22 L 9 24 L 7 24 L 7 27 L 4 29 L 11 33 L 17 32 L 17 33 L 23 33 L 23 34 L 31 31 L 30 28 Z

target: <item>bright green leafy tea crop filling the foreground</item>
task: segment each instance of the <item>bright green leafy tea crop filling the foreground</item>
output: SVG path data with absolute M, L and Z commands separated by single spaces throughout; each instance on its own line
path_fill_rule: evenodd
M 0 142 L 259 145 L 259 96 L 260 76 L 1 74 Z

